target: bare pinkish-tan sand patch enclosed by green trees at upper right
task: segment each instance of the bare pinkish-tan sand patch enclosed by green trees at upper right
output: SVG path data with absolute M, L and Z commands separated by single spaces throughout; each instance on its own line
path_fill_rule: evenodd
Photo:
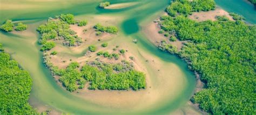
M 192 15 L 189 16 L 189 18 L 198 22 L 207 20 L 216 21 L 216 16 L 226 16 L 231 21 L 234 21 L 229 13 L 221 8 L 216 8 L 215 10 L 211 11 L 193 12 Z

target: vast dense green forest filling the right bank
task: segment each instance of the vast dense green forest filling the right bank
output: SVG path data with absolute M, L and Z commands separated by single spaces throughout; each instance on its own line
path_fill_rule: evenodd
M 193 8 L 191 2 L 176 2 Z M 177 54 L 206 83 L 206 89 L 196 93 L 192 102 L 213 114 L 254 114 L 256 26 L 223 16 L 214 22 L 196 22 L 186 18 L 187 13 L 173 10 L 179 15 L 161 17 L 161 28 L 188 40 Z M 160 48 L 169 51 L 170 46 Z

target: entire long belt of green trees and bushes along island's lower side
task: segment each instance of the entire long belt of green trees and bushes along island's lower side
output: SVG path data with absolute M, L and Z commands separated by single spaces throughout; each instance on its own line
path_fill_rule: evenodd
M 82 89 L 85 82 L 90 82 L 91 90 L 133 90 L 146 87 L 145 75 L 133 69 L 129 62 L 119 64 L 89 62 L 81 70 L 77 62 L 71 63 L 66 69 L 55 70 L 60 76 L 59 81 L 69 91 Z M 54 67 L 53 67 L 54 68 Z

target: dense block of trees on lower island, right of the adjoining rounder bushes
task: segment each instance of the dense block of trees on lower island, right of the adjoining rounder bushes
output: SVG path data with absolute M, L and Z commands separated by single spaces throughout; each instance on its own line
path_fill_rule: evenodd
M 144 89 L 145 75 L 132 69 L 129 62 L 122 64 L 106 64 L 91 62 L 82 67 L 83 77 L 91 82 L 91 90 L 133 90 Z

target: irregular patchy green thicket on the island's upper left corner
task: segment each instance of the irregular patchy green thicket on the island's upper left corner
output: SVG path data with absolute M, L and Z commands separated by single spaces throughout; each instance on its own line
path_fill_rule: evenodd
M 41 33 L 41 39 L 39 43 L 43 46 L 48 43 L 48 40 L 58 40 L 64 39 L 63 44 L 69 46 L 76 46 L 82 43 L 82 38 L 77 37 L 75 34 L 76 32 L 70 30 L 69 24 L 75 24 L 73 20 L 73 15 L 60 15 L 57 19 L 49 19 L 46 24 L 40 25 L 37 28 L 37 31 Z M 41 49 L 44 51 L 44 48 Z M 50 50 L 50 49 L 48 49 Z

